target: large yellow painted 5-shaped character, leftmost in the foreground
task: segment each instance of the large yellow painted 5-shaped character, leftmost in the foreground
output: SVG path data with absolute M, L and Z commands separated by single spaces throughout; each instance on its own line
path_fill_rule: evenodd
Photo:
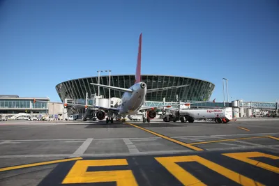
M 123 171 L 87 171 L 89 166 L 128 165 L 126 159 L 80 160 L 75 162 L 62 184 L 68 183 L 105 183 L 116 182 L 117 186 L 137 186 L 131 170 Z

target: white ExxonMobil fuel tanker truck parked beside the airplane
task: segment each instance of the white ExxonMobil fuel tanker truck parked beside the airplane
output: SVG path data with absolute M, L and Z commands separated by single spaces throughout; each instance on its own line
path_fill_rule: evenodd
M 193 123 L 195 120 L 211 119 L 216 123 L 228 123 L 232 120 L 232 107 L 223 109 L 179 109 L 169 111 L 163 116 L 163 121 L 181 121 Z

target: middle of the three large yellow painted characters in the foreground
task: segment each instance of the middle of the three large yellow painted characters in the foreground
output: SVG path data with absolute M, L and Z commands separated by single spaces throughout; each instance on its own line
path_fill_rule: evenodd
M 165 168 L 172 173 L 183 185 L 197 185 L 197 186 L 204 186 L 205 184 L 202 183 L 201 180 L 195 178 L 195 176 L 188 173 L 188 171 L 182 169 L 177 162 L 198 162 L 209 169 L 220 173 L 221 175 L 233 180 L 240 185 L 255 185 L 259 186 L 262 185 L 261 183 L 256 182 L 246 176 L 243 176 L 239 173 L 231 171 L 224 166 L 220 166 L 214 162 L 204 159 L 203 157 L 199 157 L 197 155 L 188 155 L 188 156 L 174 156 L 174 157 L 155 157 L 155 159 L 160 162 Z M 214 179 L 214 178 L 213 178 Z

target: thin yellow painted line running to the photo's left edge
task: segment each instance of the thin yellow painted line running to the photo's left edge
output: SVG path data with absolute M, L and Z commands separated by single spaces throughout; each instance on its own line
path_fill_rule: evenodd
M 70 162 L 70 161 L 75 161 L 75 160 L 82 160 L 82 157 L 75 157 L 75 158 L 68 158 L 68 159 L 63 159 L 63 160 L 53 160 L 53 161 L 48 161 L 48 162 L 39 162 L 39 163 L 33 163 L 33 164 L 22 164 L 22 165 L 17 165 L 17 166 L 8 166 L 5 168 L 0 168 L 1 171 L 10 171 L 14 169 L 22 169 L 22 168 L 28 168 L 32 166 L 40 166 L 40 165 L 45 165 L 45 164 L 56 164 L 56 163 L 61 163 L 61 162 Z

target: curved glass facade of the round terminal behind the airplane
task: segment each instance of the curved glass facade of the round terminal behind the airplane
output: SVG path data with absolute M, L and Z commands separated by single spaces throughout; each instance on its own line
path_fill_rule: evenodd
M 147 101 L 162 102 L 163 98 L 165 98 L 166 102 L 176 102 L 177 100 L 207 101 L 211 97 L 213 89 L 215 88 L 215 85 L 211 82 L 189 77 L 142 75 L 142 81 L 146 83 L 147 89 L 179 86 L 184 84 L 189 85 L 183 88 L 147 93 Z M 108 85 L 108 82 L 108 76 L 100 77 L 100 84 Z M 110 82 L 111 86 L 129 88 L 130 86 L 133 86 L 135 82 L 135 75 L 112 75 Z M 85 99 L 86 93 L 88 93 L 89 98 L 91 98 L 91 95 L 94 93 L 98 94 L 98 86 L 93 86 L 90 83 L 98 84 L 98 77 L 86 77 L 62 82 L 61 84 L 56 85 L 56 91 L 59 94 L 61 101 L 64 99 Z M 121 98 L 121 95 L 123 94 L 123 92 L 115 90 L 111 90 L 110 93 L 111 98 Z M 100 95 L 109 98 L 108 89 L 100 87 Z

